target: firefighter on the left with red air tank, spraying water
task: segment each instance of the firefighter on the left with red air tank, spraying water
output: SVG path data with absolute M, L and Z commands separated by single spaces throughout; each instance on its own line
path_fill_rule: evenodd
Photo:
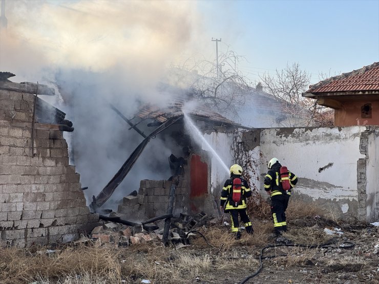
M 222 188 L 220 202 L 221 211 L 224 210 L 225 213 L 230 214 L 231 232 L 236 233 L 236 239 L 241 237 L 238 214 L 245 225 L 246 232 L 249 234 L 254 232 L 246 212 L 246 198 L 251 196 L 251 189 L 248 182 L 241 178 L 241 174 L 240 165 L 234 164 L 230 167 L 230 178 L 225 181 Z

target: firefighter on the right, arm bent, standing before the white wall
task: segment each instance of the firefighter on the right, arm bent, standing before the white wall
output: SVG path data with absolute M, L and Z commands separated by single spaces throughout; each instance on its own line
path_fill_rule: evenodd
M 276 235 L 287 231 L 286 209 L 288 206 L 291 189 L 297 184 L 298 178 L 296 174 L 285 171 L 281 176 L 281 167 L 277 158 L 272 158 L 268 162 L 268 172 L 264 178 L 264 189 L 271 199 L 271 214 L 273 219 L 273 227 Z M 285 176 L 285 178 L 283 178 Z M 283 183 L 289 182 L 288 190 L 283 189 Z

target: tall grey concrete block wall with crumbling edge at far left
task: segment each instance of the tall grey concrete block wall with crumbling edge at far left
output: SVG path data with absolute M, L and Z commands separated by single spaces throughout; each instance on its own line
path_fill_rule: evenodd
M 98 221 L 62 132 L 35 130 L 33 155 L 34 98 L 0 90 L 0 245 L 71 241 Z

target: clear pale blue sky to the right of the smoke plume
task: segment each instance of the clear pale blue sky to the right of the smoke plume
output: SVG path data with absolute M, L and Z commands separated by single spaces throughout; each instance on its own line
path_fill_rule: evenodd
M 203 0 L 198 9 L 221 49 L 246 57 L 241 71 L 251 79 L 298 62 L 315 83 L 320 72 L 333 76 L 379 61 L 378 0 Z

